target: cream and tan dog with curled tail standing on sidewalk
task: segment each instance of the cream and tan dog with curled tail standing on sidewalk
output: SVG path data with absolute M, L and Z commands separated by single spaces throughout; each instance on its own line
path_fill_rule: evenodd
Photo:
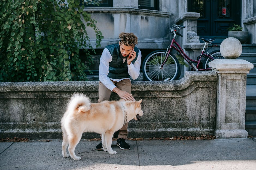
M 61 119 L 62 155 L 74 160 L 81 157 L 75 155 L 75 147 L 79 143 L 83 132 L 101 134 L 102 147 L 110 154 L 117 152 L 112 149 L 112 137 L 115 131 L 124 124 L 124 109 L 127 113 L 127 122 L 137 120 L 136 115 L 143 115 L 140 101 L 103 101 L 91 103 L 83 93 L 74 93 L 68 103 L 67 110 Z M 69 147 L 68 147 L 69 145 Z M 68 147 L 69 154 L 66 149 Z

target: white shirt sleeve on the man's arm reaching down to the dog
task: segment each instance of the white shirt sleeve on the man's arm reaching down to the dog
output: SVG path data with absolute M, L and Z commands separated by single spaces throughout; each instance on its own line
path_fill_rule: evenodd
M 112 61 L 112 56 L 109 53 L 108 49 L 104 49 L 101 57 L 100 57 L 100 65 L 99 65 L 99 81 L 108 88 L 109 90 L 113 91 L 116 87 L 112 81 L 108 78 L 108 69 L 109 69 L 109 62 Z

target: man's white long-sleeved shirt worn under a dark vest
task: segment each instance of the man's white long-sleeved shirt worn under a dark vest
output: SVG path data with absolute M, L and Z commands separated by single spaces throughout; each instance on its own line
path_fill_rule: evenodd
M 100 66 L 99 66 L 99 81 L 102 82 L 108 88 L 109 90 L 113 91 L 113 89 L 116 87 L 111 81 L 121 81 L 123 79 L 129 79 L 129 78 L 122 78 L 122 79 L 112 79 L 108 77 L 108 69 L 109 69 L 109 63 L 112 61 L 112 56 L 108 49 L 104 49 L 101 57 L 100 57 Z M 137 60 L 130 65 L 127 65 L 128 67 L 128 74 L 131 76 L 132 79 L 136 79 L 139 77 L 139 70 L 141 67 L 141 51 L 139 50 Z

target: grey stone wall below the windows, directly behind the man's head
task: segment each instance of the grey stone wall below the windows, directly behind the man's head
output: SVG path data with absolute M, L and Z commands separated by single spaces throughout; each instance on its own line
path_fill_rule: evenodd
M 159 11 L 139 9 L 138 0 L 113 1 L 113 8 L 85 8 L 97 23 L 102 32 L 101 47 L 118 43 L 118 35 L 121 32 L 132 32 L 138 36 L 139 49 L 162 49 L 166 48 L 170 41 L 168 28 L 175 24 L 178 17 L 177 0 L 159 1 Z M 88 28 L 87 33 L 95 47 L 95 33 Z

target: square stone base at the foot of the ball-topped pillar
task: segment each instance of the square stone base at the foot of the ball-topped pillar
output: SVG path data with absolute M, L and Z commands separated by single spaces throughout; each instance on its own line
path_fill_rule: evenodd
M 215 136 L 217 139 L 247 138 L 248 132 L 244 129 L 215 130 Z

